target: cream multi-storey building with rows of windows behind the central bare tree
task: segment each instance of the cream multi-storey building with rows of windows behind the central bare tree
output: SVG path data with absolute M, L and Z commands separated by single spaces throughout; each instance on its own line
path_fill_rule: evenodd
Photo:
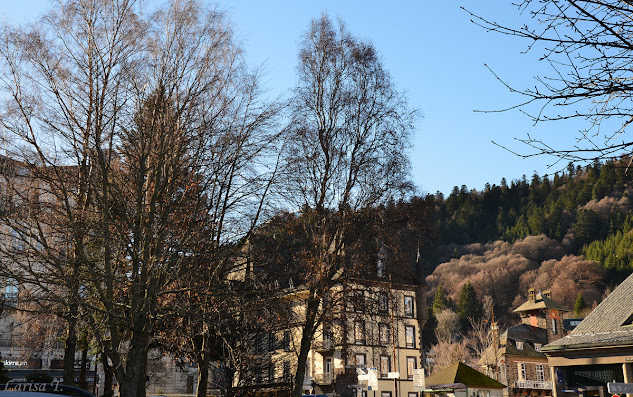
M 305 309 L 305 293 L 301 287 L 286 293 L 297 319 Z M 304 392 L 366 396 L 371 390 L 380 397 L 417 397 L 413 377 L 421 368 L 419 293 L 415 286 L 387 281 L 347 280 L 333 287 L 324 303 L 331 308 L 308 353 Z M 255 338 L 256 350 L 266 359 L 256 364 L 260 370 L 251 375 L 249 390 L 290 393 L 301 336 L 301 321 L 291 321 Z

